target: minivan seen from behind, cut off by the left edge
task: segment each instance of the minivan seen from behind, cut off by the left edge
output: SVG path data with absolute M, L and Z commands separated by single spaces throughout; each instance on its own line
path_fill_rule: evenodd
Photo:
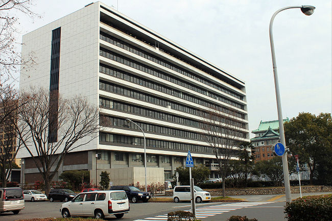
M 24 195 L 21 188 L 0 188 L 0 213 L 13 212 L 18 214 L 24 208 Z

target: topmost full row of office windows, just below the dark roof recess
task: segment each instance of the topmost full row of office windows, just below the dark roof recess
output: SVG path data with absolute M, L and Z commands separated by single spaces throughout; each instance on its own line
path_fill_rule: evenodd
M 233 97 L 236 97 L 237 99 L 243 100 L 243 96 L 242 95 L 236 94 L 236 93 L 234 93 L 234 92 L 226 89 L 225 87 L 222 87 L 222 86 L 220 86 L 218 84 L 215 84 L 214 82 L 211 82 L 209 80 L 206 80 L 206 79 L 204 79 L 204 78 L 202 78 L 202 77 L 200 77 L 200 76 L 198 76 L 198 75 L 196 75 L 196 74 L 194 74 L 192 72 L 189 72 L 189 71 L 187 71 L 187 70 L 185 70 L 183 68 L 180 68 L 179 66 L 174 65 L 171 62 L 168 62 L 168 61 L 165 61 L 164 59 L 158 58 L 157 56 L 152 55 L 152 54 L 150 54 L 148 52 L 145 52 L 145 51 L 141 50 L 140 48 L 135 47 L 135 46 L 133 46 L 133 45 L 131 45 L 131 44 L 125 42 L 125 41 L 117 39 L 114 36 L 108 35 L 108 34 L 106 34 L 106 33 L 104 33 L 104 32 L 101 31 L 100 32 L 100 39 L 102 39 L 104 41 L 107 41 L 107 42 L 109 42 L 109 43 L 111 43 L 111 44 L 113 44 L 115 46 L 121 47 L 124 50 L 127 50 L 127 51 L 129 51 L 131 53 L 134 53 L 134 54 L 136 54 L 136 55 L 138 55 L 140 57 L 143 57 L 143 58 L 148 59 L 148 60 L 150 60 L 152 62 L 155 62 L 155 63 L 157 63 L 157 64 L 159 64 L 161 66 L 170 68 L 170 69 L 172 69 L 172 70 L 174 70 L 174 71 L 176 71 L 178 73 L 181 73 L 182 75 L 185 75 L 185 76 L 187 76 L 189 78 L 192 78 L 192 79 L 194 79 L 196 81 L 199 81 L 199 82 L 201 82 L 201 83 L 203 83 L 205 85 L 208 85 L 210 87 L 216 88 L 217 90 L 220 90 L 220 91 L 222 91 L 224 93 L 227 93 L 227 94 L 229 94 L 229 95 L 231 95 Z M 207 95 L 207 91 L 206 90 L 201 90 L 201 91 L 202 91 L 203 94 Z

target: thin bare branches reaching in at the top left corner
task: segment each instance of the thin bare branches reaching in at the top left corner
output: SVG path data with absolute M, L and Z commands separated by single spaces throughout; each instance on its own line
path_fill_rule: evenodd
M 33 18 L 38 16 L 30 10 L 33 0 L 0 0 L 0 77 L 13 78 L 18 65 L 30 65 L 32 54 L 22 59 L 17 41 L 19 30 L 17 14 L 26 14 Z

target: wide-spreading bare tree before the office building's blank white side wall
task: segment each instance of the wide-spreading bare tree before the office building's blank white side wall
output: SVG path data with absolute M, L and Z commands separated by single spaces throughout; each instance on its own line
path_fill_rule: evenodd
M 65 155 L 98 136 L 99 111 L 85 99 L 62 99 L 57 90 L 31 88 L 20 99 L 29 102 L 19 108 L 18 138 L 28 130 L 31 139 L 22 139 L 45 182 L 45 193 Z

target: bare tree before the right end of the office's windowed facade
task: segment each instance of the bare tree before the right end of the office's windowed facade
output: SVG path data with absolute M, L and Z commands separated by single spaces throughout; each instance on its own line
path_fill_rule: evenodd
M 203 113 L 204 138 L 213 149 L 218 162 L 219 174 L 223 179 L 223 197 L 225 197 L 225 179 L 229 173 L 229 162 L 237 156 L 236 145 L 242 136 L 242 133 L 236 130 L 241 122 L 235 118 L 235 111 L 225 108 L 223 112 L 215 107 L 208 108 Z

